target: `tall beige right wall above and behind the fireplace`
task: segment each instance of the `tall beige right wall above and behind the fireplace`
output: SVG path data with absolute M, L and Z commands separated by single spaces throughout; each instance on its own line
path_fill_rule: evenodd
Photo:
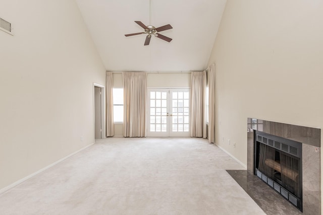
M 323 127 L 322 11 L 318 0 L 228 0 L 209 59 L 216 143 L 244 164 L 247 117 Z

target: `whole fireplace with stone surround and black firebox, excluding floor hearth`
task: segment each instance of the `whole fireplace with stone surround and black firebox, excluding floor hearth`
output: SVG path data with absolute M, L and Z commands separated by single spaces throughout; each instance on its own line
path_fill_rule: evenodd
M 248 118 L 247 137 L 247 172 L 303 214 L 320 214 L 321 129 Z

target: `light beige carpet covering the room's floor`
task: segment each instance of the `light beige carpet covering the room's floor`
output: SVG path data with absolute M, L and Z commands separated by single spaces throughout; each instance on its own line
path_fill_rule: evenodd
M 202 138 L 106 138 L 0 195 L 1 214 L 264 214 Z

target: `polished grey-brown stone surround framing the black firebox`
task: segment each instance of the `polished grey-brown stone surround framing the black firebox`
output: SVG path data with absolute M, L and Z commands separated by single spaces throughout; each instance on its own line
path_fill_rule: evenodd
M 253 130 L 263 131 L 302 143 L 303 214 L 320 214 L 320 129 L 248 118 L 247 171 L 250 174 L 253 174 Z

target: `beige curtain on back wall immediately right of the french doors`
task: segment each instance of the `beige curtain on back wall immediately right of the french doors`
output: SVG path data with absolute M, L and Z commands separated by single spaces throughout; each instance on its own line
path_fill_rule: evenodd
M 206 138 L 206 71 L 191 73 L 191 109 L 190 134 L 191 137 Z

